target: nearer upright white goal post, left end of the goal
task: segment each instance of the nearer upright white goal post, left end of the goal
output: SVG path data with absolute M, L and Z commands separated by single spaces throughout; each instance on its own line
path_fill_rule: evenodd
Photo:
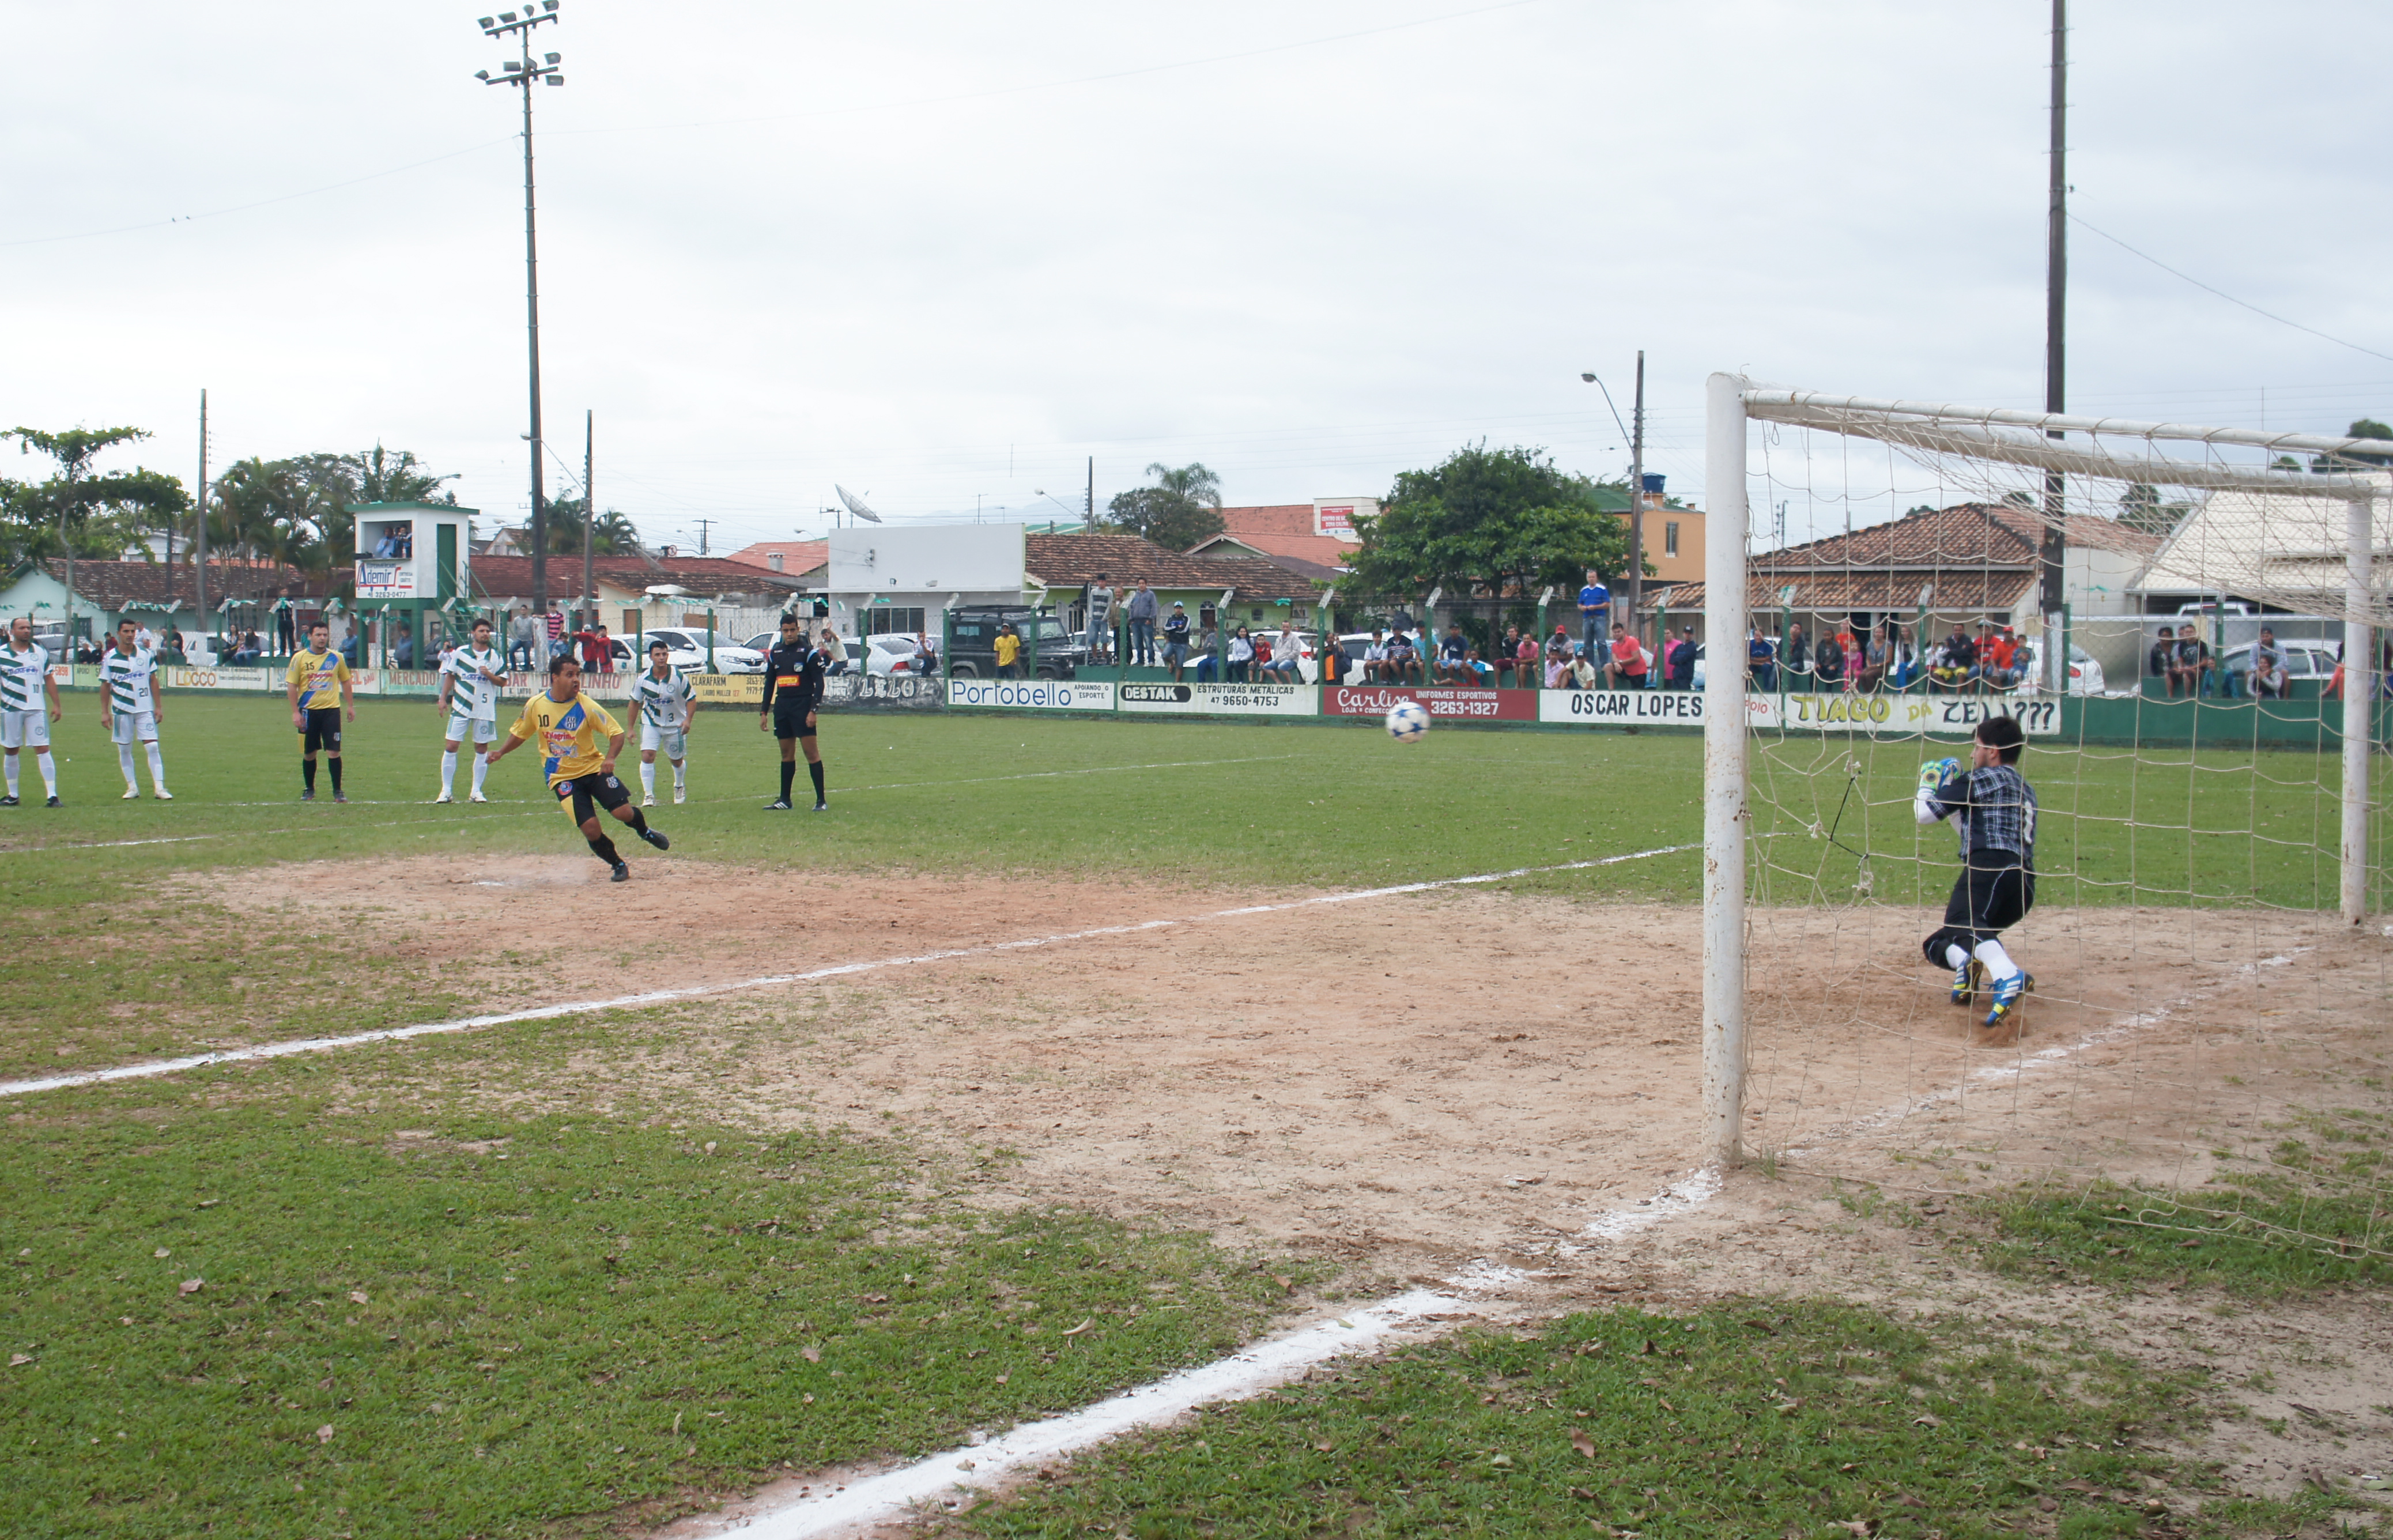
M 1639 488 L 1642 490 L 1642 488 Z M 1744 378 L 1704 387 L 1704 1160 L 1744 1155 Z

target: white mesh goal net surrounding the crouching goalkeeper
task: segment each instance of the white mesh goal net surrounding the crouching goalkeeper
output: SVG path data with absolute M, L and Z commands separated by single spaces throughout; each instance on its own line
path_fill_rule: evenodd
M 1713 375 L 1713 1160 L 2393 1258 L 2388 452 Z

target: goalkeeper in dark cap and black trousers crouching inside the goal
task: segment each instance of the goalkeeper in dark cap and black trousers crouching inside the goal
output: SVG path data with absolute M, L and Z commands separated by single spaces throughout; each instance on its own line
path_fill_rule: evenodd
M 1953 968 L 1953 1004 L 1972 1004 L 1979 980 L 1989 985 L 1989 1028 L 2005 1023 L 2036 988 L 2001 940 L 2036 906 L 2036 792 L 2017 768 L 2024 746 L 2017 717 L 1989 717 L 1977 725 L 1969 768 L 1929 760 L 1912 799 L 1922 825 L 1950 818 L 1960 827 L 1962 861 L 1946 923 L 1922 949 L 1929 966 Z

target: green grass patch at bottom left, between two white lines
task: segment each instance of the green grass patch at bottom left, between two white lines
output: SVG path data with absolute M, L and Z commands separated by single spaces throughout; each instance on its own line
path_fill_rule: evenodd
M 1228 1351 L 1283 1296 L 1285 1263 L 974 1208 L 969 1172 L 897 1141 L 428 1090 L 538 1081 L 555 1050 L 519 1050 L 412 1055 L 366 1086 L 206 1074 L 12 1119 L 12 1533 L 656 1518 L 785 1463 L 1079 1406 Z

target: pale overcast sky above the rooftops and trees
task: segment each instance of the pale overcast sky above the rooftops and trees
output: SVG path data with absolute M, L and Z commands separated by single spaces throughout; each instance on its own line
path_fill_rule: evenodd
M 2072 227 L 2070 407 L 2393 416 L 2393 10 L 2072 10 L 2075 213 L 2371 352 Z M 380 440 L 522 519 L 519 105 L 476 14 L 0 10 L 0 426 L 144 426 L 189 481 L 206 385 L 215 466 Z M 1579 373 L 1625 411 L 1639 347 L 1689 497 L 1713 368 L 2041 402 L 2039 0 L 560 17 L 548 488 L 591 409 L 601 507 L 658 543 L 818 533 L 835 481 L 1074 517 L 1089 457 L 1098 505 L 1153 459 L 1376 495 L 1476 438 L 1620 473 Z

